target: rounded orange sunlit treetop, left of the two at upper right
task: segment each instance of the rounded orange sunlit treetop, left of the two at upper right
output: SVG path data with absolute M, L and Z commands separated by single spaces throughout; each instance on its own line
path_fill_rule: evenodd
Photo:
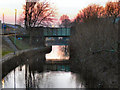
M 81 10 L 76 17 L 76 21 L 86 22 L 102 16 L 104 16 L 104 8 L 102 6 L 93 4 Z

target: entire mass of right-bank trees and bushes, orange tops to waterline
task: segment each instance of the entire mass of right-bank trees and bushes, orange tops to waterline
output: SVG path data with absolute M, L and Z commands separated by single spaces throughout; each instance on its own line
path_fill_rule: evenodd
M 119 3 L 108 2 L 105 7 L 89 5 L 79 12 L 71 30 L 74 32 L 70 40 L 72 68 L 82 72 L 88 81 L 94 77 L 102 88 L 120 86 L 118 24 L 114 23 L 120 16 Z

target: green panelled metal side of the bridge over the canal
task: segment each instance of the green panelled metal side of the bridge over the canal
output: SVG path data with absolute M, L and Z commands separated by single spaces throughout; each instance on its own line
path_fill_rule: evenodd
M 70 37 L 70 28 L 44 28 L 44 37 Z

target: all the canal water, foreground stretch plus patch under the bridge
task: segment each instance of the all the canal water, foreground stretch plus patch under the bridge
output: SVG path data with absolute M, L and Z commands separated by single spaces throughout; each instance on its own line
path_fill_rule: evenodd
M 68 46 L 52 46 L 45 55 L 46 61 L 69 60 Z M 8 73 L 2 80 L 3 88 L 85 88 L 84 80 L 70 70 L 67 64 L 44 65 L 22 64 Z

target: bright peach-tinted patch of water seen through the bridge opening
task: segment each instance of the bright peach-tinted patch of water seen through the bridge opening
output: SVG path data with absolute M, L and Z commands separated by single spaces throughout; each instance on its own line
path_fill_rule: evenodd
M 59 60 L 68 60 L 69 59 L 69 48 L 68 45 L 54 45 L 52 46 L 52 51 L 49 54 L 46 54 L 47 60 L 59 61 Z

